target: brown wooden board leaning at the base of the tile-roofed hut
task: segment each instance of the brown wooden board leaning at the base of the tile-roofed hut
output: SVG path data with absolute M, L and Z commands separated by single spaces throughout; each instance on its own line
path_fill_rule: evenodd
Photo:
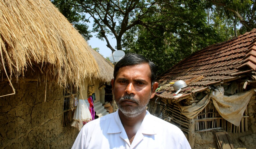
M 231 143 L 227 132 L 214 132 L 214 136 L 219 149 L 234 149 L 234 146 Z

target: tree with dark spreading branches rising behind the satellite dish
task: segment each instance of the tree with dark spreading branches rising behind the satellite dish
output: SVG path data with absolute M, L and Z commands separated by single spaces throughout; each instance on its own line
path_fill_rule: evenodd
M 166 13 L 165 8 L 161 7 L 163 3 L 168 3 L 165 0 L 69 0 L 67 2 L 72 8 L 71 10 L 75 10 L 82 17 L 86 13 L 93 17 L 93 32 L 98 32 L 97 37 L 102 40 L 105 39 L 107 47 L 112 51 L 122 49 L 122 37 L 126 31 L 137 25 L 155 28 L 159 23 L 168 19 L 168 15 L 166 17 L 163 15 L 158 19 L 147 19 L 152 18 L 151 14 Z M 145 19 L 148 21 L 143 21 Z M 165 29 L 165 27 L 163 26 L 162 29 Z M 107 34 L 115 37 L 116 47 L 111 46 Z

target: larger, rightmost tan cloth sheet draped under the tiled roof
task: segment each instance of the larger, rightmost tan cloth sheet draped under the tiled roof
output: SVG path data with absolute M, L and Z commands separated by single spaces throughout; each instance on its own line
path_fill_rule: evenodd
M 254 94 L 254 90 L 255 88 L 231 96 L 222 95 L 222 99 L 218 97 L 220 93 L 217 90 L 215 90 L 215 94 L 213 92 L 213 94 L 211 95 L 211 99 L 221 117 L 223 117 L 230 123 L 239 126 L 243 113 L 250 101 L 250 98 Z

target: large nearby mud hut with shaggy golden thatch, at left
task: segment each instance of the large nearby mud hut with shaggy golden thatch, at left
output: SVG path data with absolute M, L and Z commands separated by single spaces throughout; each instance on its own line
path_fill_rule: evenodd
M 0 146 L 71 148 L 73 100 L 99 67 L 49 0 L 0 0 Z

